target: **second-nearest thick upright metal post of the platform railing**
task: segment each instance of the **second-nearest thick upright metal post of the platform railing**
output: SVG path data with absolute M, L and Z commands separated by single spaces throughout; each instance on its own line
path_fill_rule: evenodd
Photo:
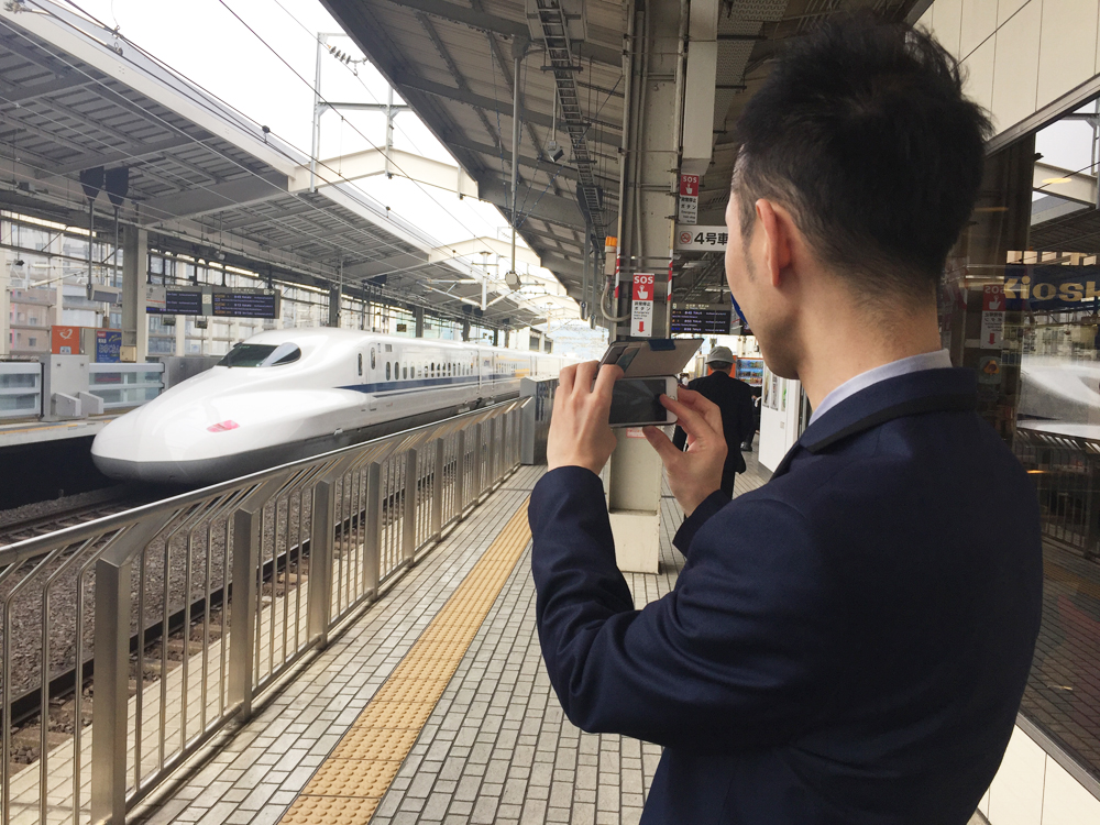
M 229 701 L 241 718 L 252 716 L 256 646 L 256 568 L 260 566 L 260 515 L 263 504 L 233 514 L 233 585 L 229 639 Z M 310 571 L 312 572 L 312 571 Z M 312 590 L 312 583 L 310 583 Z

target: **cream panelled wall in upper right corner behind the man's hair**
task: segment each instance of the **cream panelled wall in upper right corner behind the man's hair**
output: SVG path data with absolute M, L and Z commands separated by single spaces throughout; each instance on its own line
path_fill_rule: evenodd
M 1097 0 L 936 0 L 919 22 L 963 64 L 996 147 L 1097 91 Z

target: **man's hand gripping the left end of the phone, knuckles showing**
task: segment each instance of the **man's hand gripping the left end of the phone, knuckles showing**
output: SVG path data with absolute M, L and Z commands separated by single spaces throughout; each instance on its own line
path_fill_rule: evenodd
M 583 466 L 598 474 L 615 450 L 615 433 L 607 420 L 612 411 L 612 387 L 623 371 L 604 364 L 597 376 L 597 366 L 595 361 L 585 361 L 566 366 L 558 377 L 547 438 L 550 470 Z

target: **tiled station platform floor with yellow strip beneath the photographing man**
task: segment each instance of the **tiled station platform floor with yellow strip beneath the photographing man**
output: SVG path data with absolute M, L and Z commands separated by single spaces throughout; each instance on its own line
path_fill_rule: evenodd
M 746 454 L 737 492 L 769 473 Z M 660 748 L 580 732 L 535 628 L 520 468 L 330 641 L 253 719 L 130 822 L 636 823 Z M 661 566 L 627 574 L 639 606 L 675 584 L 682 514 L 666 485 Z

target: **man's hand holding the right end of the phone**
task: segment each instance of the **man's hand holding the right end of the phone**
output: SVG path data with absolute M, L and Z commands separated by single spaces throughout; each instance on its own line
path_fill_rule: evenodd
M 722 435 L 718 405 L 693 389 L 680 388 L 680 399 L 661 396 L 666 409 L 676 414 L 676 421 L 688 433 L 688 452 L 680 452 L 669 437 L 656 427 L 644 432 L 669 473 L 672 495 L 690 516 L 703 499 L 722 488 L 722 466 L 726 461 L 726 439 Z

